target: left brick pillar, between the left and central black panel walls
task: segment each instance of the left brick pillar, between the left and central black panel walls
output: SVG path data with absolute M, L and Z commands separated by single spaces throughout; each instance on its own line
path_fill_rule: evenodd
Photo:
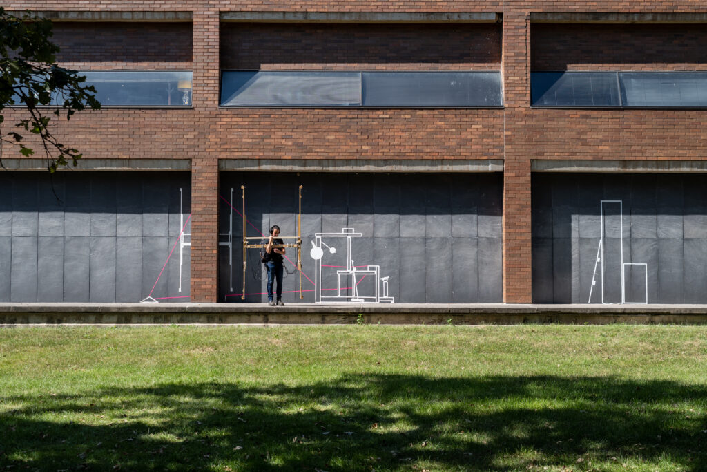
M 203 132 L 192 156 L 191 301 L 215 302 L 218 264 L 218 11 L 194 12 L 194 128 Z

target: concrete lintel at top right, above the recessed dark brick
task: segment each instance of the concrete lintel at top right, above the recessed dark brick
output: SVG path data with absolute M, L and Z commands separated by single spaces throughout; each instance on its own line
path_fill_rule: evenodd
M 707 13 L 530 13 L 532 23 L 707 23 Z

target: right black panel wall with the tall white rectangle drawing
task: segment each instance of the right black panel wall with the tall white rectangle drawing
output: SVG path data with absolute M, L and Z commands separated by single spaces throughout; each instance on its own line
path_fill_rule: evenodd
M 534 303 L 703 304 L 705 267 L 707 175 L 533 175 Z

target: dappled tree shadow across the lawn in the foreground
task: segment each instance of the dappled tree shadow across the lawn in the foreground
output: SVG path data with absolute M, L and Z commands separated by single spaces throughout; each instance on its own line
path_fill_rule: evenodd
M 707 390 L 668 381 L 372 374 L 1 399 L 15 469 L 707 469 Z

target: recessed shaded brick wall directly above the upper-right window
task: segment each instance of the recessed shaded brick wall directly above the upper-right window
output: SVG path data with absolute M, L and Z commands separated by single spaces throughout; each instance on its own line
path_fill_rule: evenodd
M 704 71 L 704 25 L 557 25 L 531 28 L 534 71 Z

